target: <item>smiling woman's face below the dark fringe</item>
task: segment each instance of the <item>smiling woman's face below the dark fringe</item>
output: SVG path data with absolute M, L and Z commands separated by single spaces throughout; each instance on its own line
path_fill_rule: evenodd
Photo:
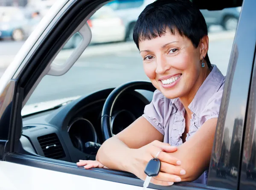
M 139 48 L 145 74 L 166 98 L 187 96 L 192 91 L 202 72 L 201 44 L 195 48 L 188 38 L 166 32 L 141 41 Z

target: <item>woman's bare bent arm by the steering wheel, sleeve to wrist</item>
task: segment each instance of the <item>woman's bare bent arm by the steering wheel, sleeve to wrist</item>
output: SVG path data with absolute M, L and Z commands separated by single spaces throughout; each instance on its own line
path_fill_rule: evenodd
M 132 150 L 154 140 L 163 141 L 163 135 L 141 116 L 116 136 L 106 140 L 99 148 L 96 160 L 111 169 L 128 171 L 126 164 Z

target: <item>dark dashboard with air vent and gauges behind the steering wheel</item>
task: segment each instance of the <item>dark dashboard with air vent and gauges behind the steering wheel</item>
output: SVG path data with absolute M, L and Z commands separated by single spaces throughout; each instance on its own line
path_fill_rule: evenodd
M 21 145 L 26 153 L 67 162 L 95 160 L 104 142 L 102 108 L 113 88 L 81 96 L 59 108 L 23 117 Z M 143 114 L 153 92 L 129 91 L 117 100 L 111 116 L 117 134 Z

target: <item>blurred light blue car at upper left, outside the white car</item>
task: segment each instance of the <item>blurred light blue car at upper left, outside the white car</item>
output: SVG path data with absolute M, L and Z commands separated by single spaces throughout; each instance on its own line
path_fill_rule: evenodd
M 26 9 L 1 6 L 0 38 L 11 38 L 15 41 L 26 39 L 40 21 L 36 17 L 36 14 Z

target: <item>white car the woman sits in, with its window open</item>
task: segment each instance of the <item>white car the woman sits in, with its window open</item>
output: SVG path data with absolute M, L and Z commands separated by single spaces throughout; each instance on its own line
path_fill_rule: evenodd
M 79 159 L 95 159 L 102 142 L 141 116 L 155 90 L 142 80 L 146 77 L 140 73 L 138 51 L 128 51 L 133 46 L 102 45 L 94 47 L 94 57 L 83 54 L 93 35 L 87 20 L 106 3 L 55 3 L 0 78 L 0 189 L 142 189 L 143 181 L 131 173 L 76 165 Z M 256 24 L 252 22 L 256 1 L 194 3 L 215 10 L 241 6 L 232 51 L 227 54 L 230 61 L 208 180 L 149 188 L 255 189 L 256 181 L 247 179 L 246 171 L 256 162 Z M 83 37 L 80 45 L 69 57 L 64 51 L 57 59 L 77 32 Z M 219 56 L 224 51 L 221 45 L 229 41 L 215 42 L 211 47 Z M 117 51 L 120 48 L 122 52 Z M 237 175 L 216 177 L 220 164 L 236 167 Z

